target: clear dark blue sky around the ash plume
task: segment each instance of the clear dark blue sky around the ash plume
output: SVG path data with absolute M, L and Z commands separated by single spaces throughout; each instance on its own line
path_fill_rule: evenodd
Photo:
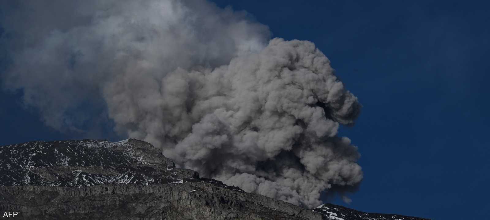
M 341 135 L 359 147 L 365 178 L 351 204 L 333 203 L 437 220 L 488 218 L 489 3 L 215 2 L 246 10 L 273 37 L 314 42 L 363 104 Z M 84 138 L 45 127 L 21 95 L 0 92 L 0 145 Z M 109 131 L 97 138 L 117 139 Z

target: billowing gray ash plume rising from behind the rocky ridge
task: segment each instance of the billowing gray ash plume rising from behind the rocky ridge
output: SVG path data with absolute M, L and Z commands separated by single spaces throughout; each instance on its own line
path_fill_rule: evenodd
M 2 8 L 2 86 L 23 89 L 53 128 L 108 115 L 201 176 L 307 207 L 363 177 L 357 147 L 337 136 L 360 105 L 311 42 L 269 40 L 245 12 L 204 0 Z

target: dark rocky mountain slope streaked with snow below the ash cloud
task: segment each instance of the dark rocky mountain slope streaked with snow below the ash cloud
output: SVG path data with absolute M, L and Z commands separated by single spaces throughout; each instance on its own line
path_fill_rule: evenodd
M 342 206 L 306 210 L 201 178 L 135 139 L 1 146 L 0 213 L 5 211 L 39 220 L 368 220 Z

